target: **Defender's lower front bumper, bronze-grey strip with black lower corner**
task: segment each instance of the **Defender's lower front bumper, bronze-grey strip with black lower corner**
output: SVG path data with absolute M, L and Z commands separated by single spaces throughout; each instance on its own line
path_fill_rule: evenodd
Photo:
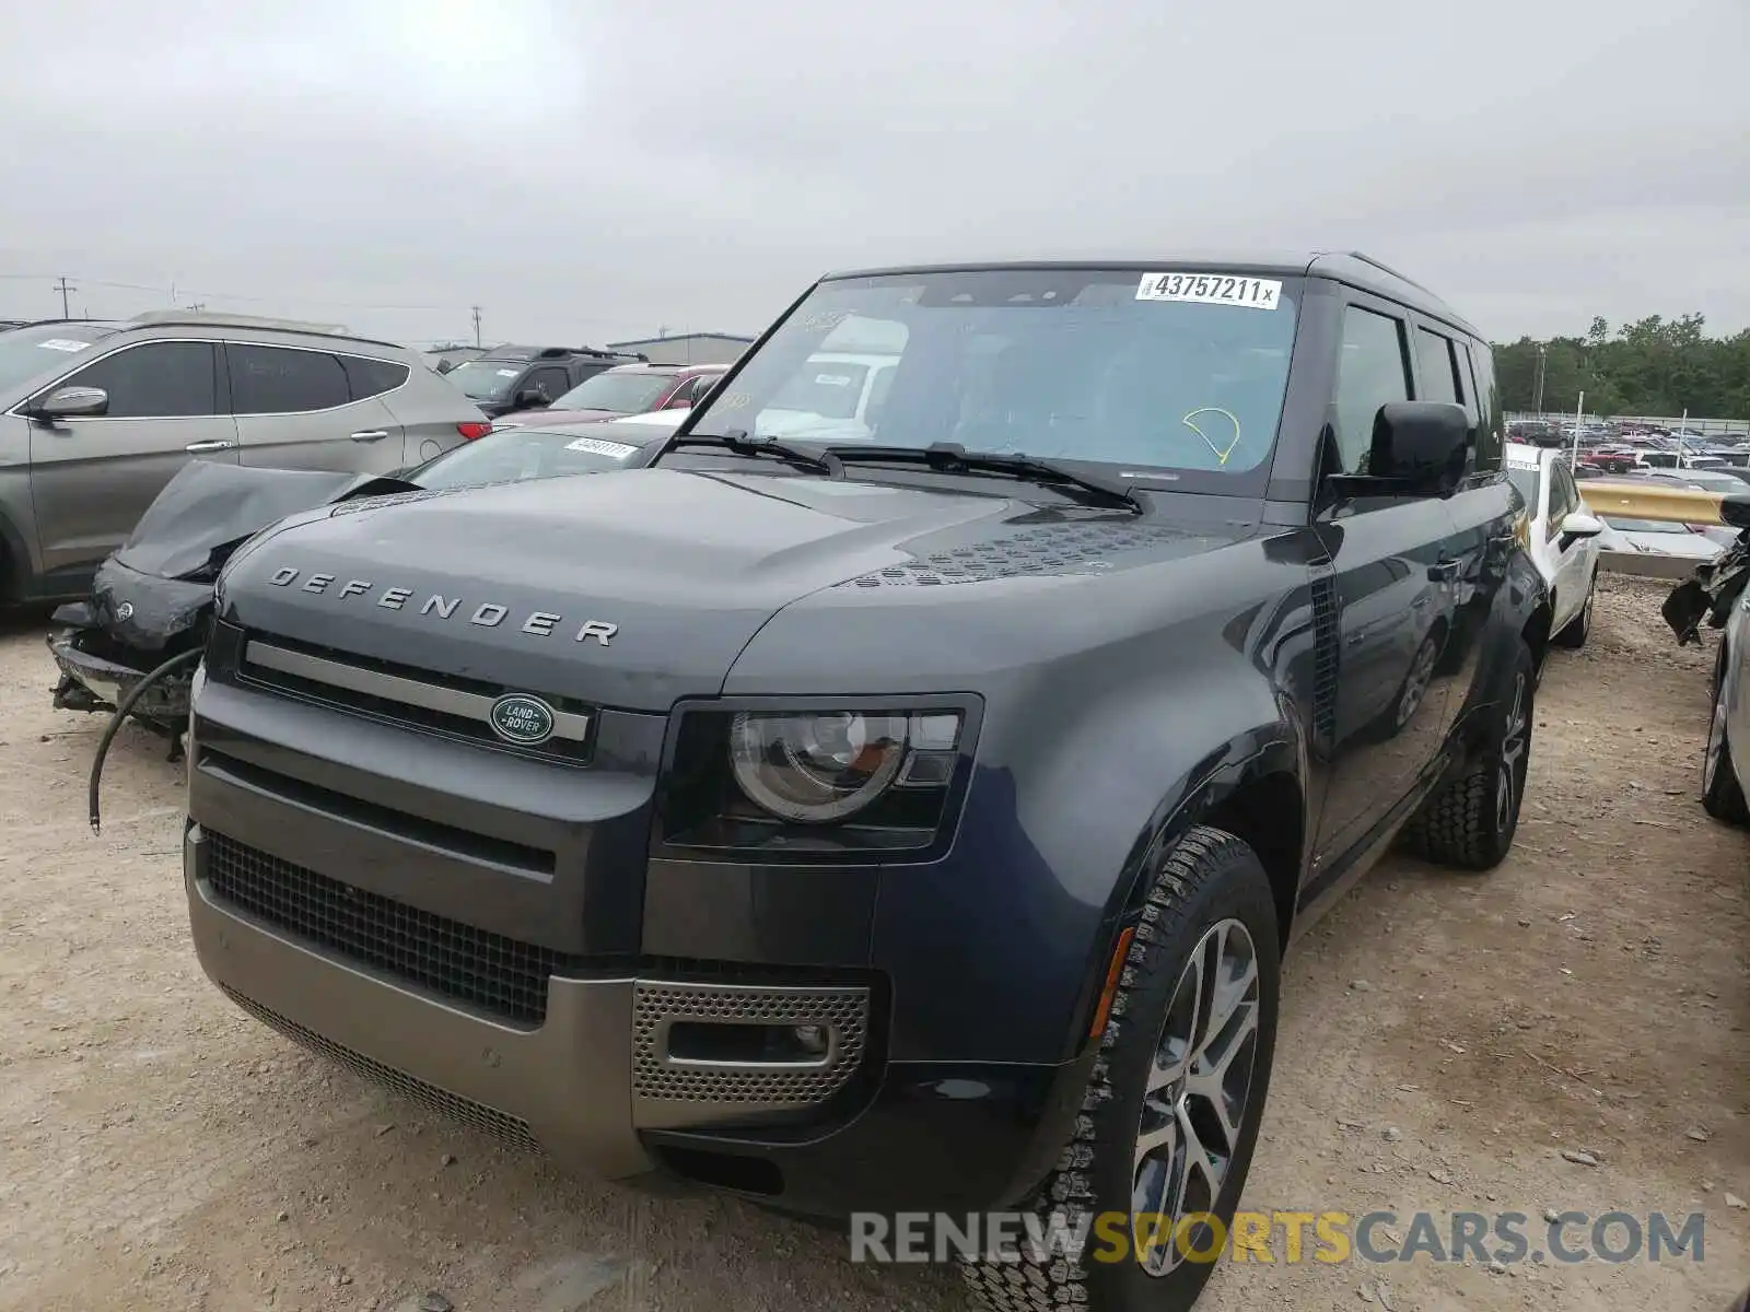
M 214 836 L 191 824 L 194 950 L 233 1002 L 572 1174 L 682 1176 L 821 1216 L 994 1207 L 1050 1169 L 1087 1085 L 1092 1057 L 882 1065 L 861 987 L 553 976 L 542 1022 L 506 1023 L 250 915 L 217 892 L 212 857 Z M 812 1071 L 668 1060 L 663 1037 L 677 1022 L 726 1015 L 824 1025 L 833 1046 Z M 870 1072 L 875 1086 L 856 1093 Z M 794 1113 L 814 1114 L 786 1120 Z

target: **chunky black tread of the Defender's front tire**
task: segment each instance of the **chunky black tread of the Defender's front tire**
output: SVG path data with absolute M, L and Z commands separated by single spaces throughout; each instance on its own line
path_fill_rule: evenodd
M 1185 904 L 1190 901 L 1195 883 L 1211 878 L 1227 859 L 1239 854 L 1256 861 L 1242 840 L 1211 826 L 1194 826 L 1172 845 L 1148 889 L 1136 936 L 1130 939 L 1118 990 L 1113 994 L 1111 1018 L 1101 1036 L 1102 1053 L 1120 1041 L 1129 995 L 1143 971 L 1158 955 L 1158 945 L 1178 939 L 1186 927 Z M 1102 1111 L 1115 1097 L 1116 1090 L 1111 1085 L 1108 1062 L 1101 1057 L 1094 1062 L 1094 1074 L 1082 1097 L 1082 1113 L 1076 1116 L 1071 1141 L 1059 1155 L 1057 1167 L 1045 1177 L 1029 1204 L 1022 1205 L 1022 1211 L 1031 1207 L 1046 1212 L 1052 1207 L 1060 1207 L 1073 1223 L 1078 1223 L 1083 1212 L 1092 1211 L 1094 1184 L 1087 1169 L 1094 1163 L 1096 1141 L 1108 1120 Z M 1034 1261 L 1026 1253 L 1017 1261 L 966 1261 L 961 1265 L 961 1274 L 966 1277 L 973 1300 L 989 1312 L 1064 1312 L 1064 1309 L 1087 1307 L 1088 1303 L 1087 1268 L 1062 1256 L 1055 1256 L 1048 1263 Z

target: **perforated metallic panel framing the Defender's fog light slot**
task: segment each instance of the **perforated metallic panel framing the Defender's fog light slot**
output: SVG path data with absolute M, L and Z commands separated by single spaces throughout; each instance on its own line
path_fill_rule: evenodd
M 870 992 L 858 987 L 637 983 L 632 994 L 632 1090 L 646 1099 L 802 1107 L 826 1102 L 858 1072 L 868 1046 Z M 824 1065 L 670 1062 L 663 1022 L 828 1025 L 838 1051 Z

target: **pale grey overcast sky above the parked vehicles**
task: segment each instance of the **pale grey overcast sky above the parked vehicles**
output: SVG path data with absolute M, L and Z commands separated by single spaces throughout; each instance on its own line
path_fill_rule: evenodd
M 0 317 L 65 273 L 89 315 L 751 334 L 830 268 L 1264 243 L 1496 339 L 1738 331 L 1746 58 L 1745 0 L 16 0 Z

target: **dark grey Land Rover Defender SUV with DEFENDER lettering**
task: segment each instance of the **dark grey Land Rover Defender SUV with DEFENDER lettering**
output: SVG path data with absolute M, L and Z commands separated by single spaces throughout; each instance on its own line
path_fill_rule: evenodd
M 861 439 L 789 404 L 875 339 Z M 1365 257 L 835 275 L 642 469 L 231 558 L 194 948 L 569 1169 L 1153 1218 L 1120 1261 L 966 1270 L 1185 1309 L 1213 1265 L 1172 1228 L 1237 1204 L 1283 952 L 1395 838 L 1514 841 L 1521 513 L 1489 346 Z

